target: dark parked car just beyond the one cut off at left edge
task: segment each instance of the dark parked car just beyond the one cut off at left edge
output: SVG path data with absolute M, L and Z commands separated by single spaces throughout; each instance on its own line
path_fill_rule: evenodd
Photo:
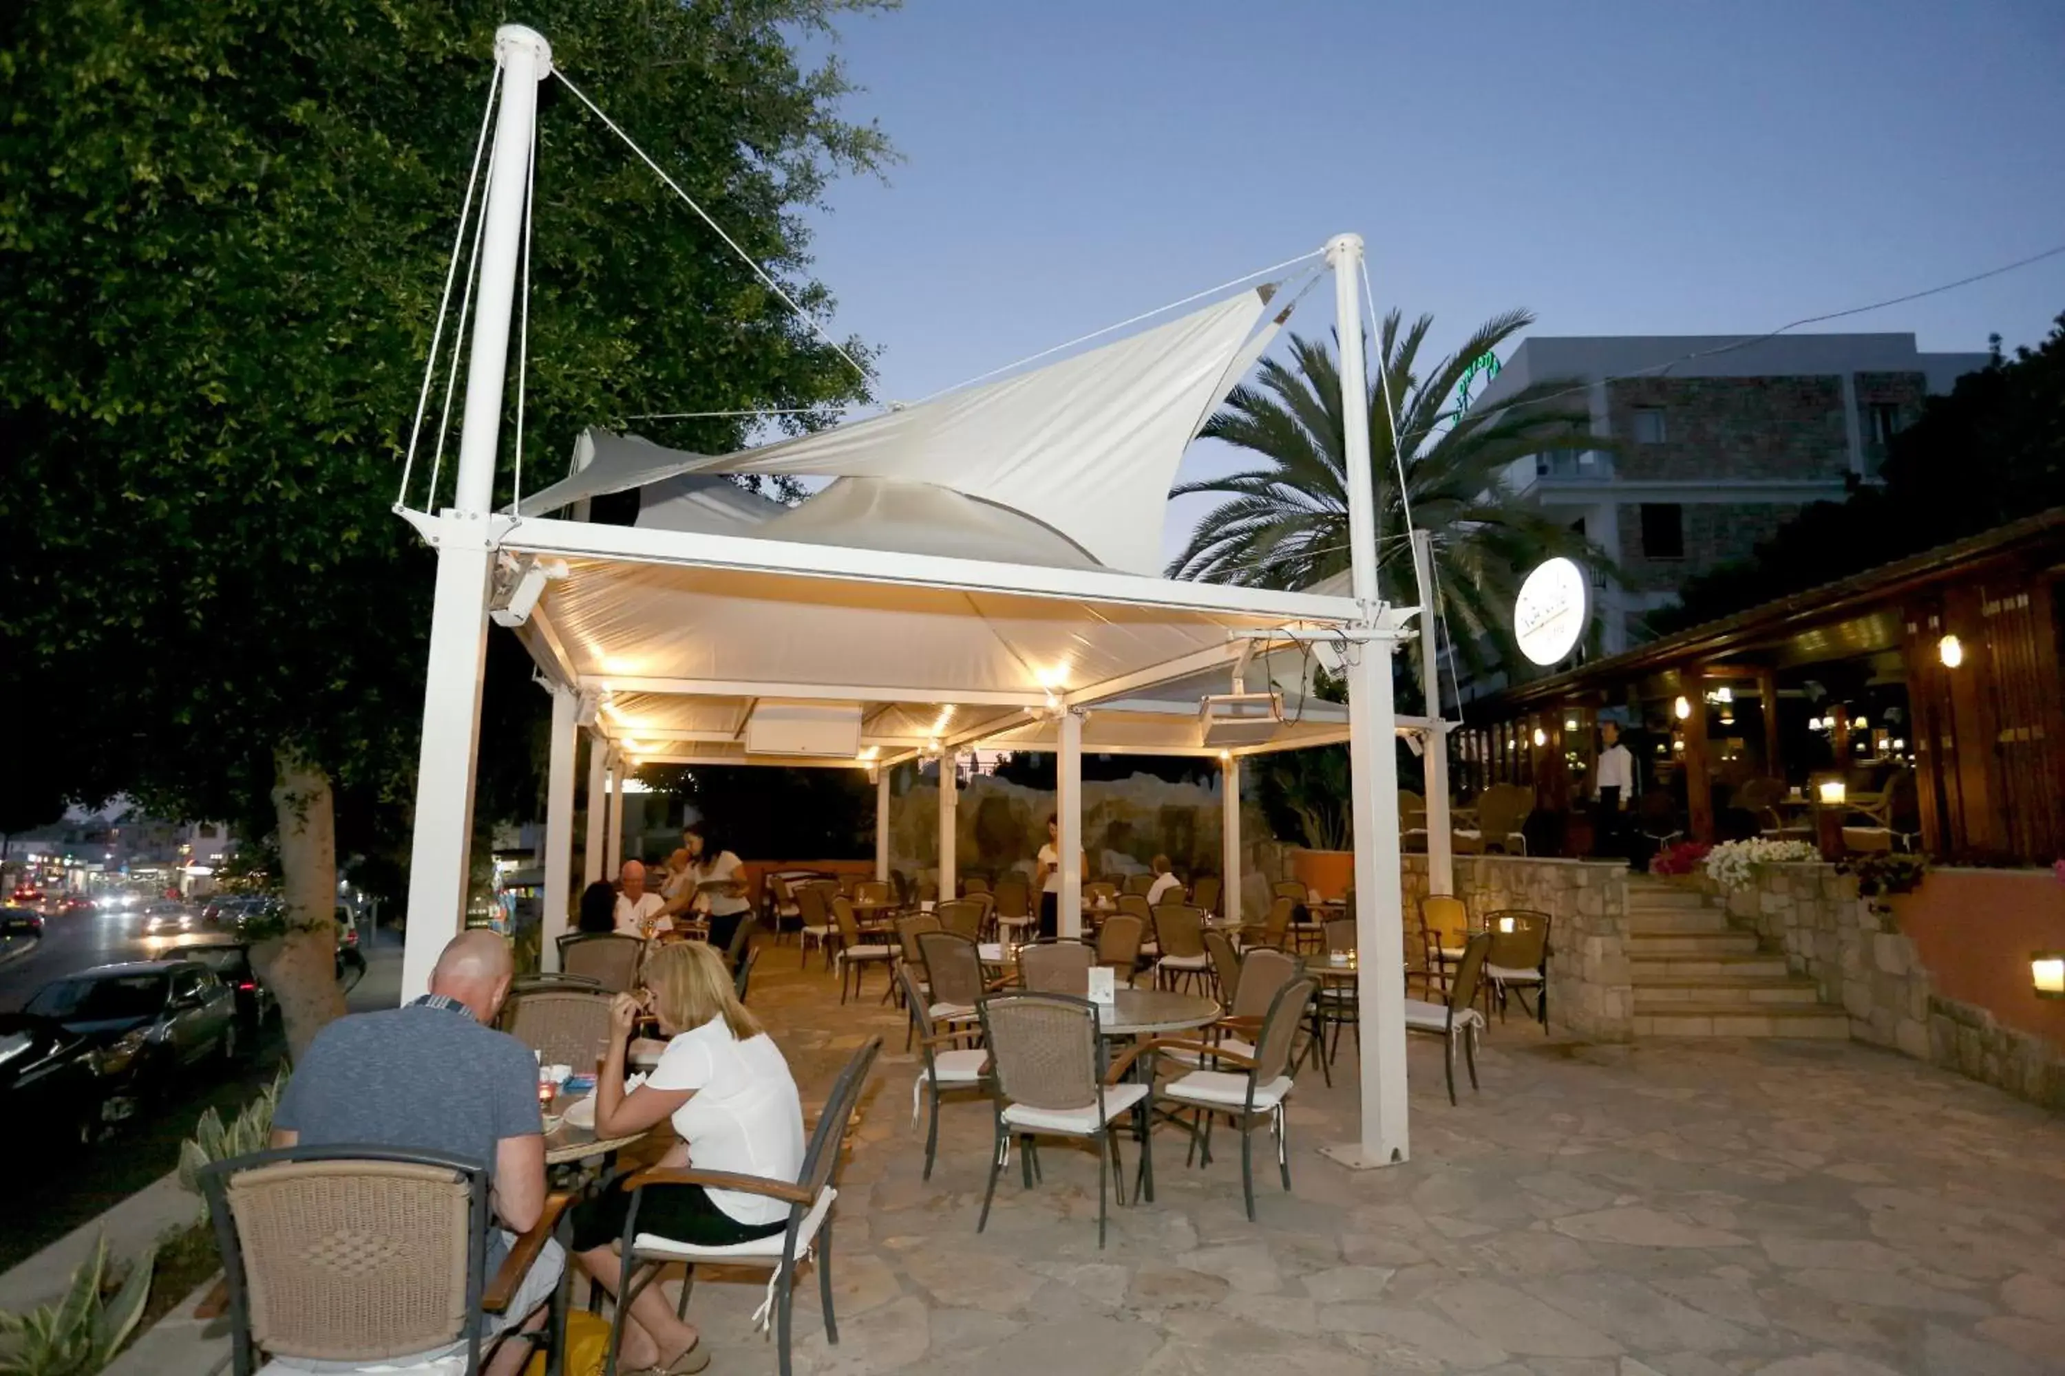
M 235 1060 L 244 1046 L 237 996 L 200 961 L 128 961 L 52 980 L 23 1009 L 93 1044 L 109 1093 L 128 1102 L 165 1091 L 188 1064 Z

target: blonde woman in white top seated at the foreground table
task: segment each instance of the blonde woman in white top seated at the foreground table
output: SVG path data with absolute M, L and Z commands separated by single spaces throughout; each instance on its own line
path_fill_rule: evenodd
M 595 1135 L 630 1137 L 673 1120 L 681 1141 L 661 1166 L 760 1176 L 795 1184 L 803 1172 L 803 1104 L 774 1038 L 737 994 L 725 957 L 702 941 L 659 947 L 646 959 L 653 1015 L 669 1038 L 646 1083 L 624 1093 L 624 1056 L 638 1021 L 638 1001 L 617 994 L 611 1005 L 609 1052 L 595 1091 Z M 620 1172 L 620 1176 L 630 1172 Z M 580 1267 L 611 1293 L 624 1279 L 615 1242 L 624 1236 L 630 1194 L 609 1180 L 574 1209 L 574 1252 Z M 789 1225 L 789 1205 L 764 1194 L 706 1190 L 700 1184 L 655 1184 L 638 1201 L 638 1232 L 675 1242 L 729 1246 L 772 1238 Z M 700 1335 L 681 1322 L 657 1285 L 632 1300 L 624 1324 L 620 1370 L 655 1368 L 671 1376 L 710 1364 L 698 1353 Z

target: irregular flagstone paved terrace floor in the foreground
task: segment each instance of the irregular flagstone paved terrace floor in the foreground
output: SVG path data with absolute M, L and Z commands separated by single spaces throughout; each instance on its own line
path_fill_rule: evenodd
M 845 1056 L 886 1040 L 836 1213 L 843 1341 L 805 1275 L 799 1372 L 2065 1372 L 2065 1120 L 1887 1052 L 1578 1048 L 1514 1021 L 1483 1093 L 1450 1108 L 1439 1044 L 1415 1038 L 1410 1164 L 1320 1157 L 1355 1097 L 1305 1075 L 1295 1188 L 1258 1182 L 1258 1223 L 1237 1151 L 1185 1170 L 1163 1131 L 1156 1201 L 1117 1209 L 1099 1252 L 1097 1161 L 1059 1147 L 1043 1186 L 1004 1178 L 977 1236 L 987 1104 L 946 1106 L 923 1182 L 900 1013 L 878 978 L 843 1009 L 795 959 L 770 949 L 752 1003 L 812 1116 Z M 752 1273 L 698 1277 L 712 1372 L 774 1370 L 748 1333 L 760 1293 Z

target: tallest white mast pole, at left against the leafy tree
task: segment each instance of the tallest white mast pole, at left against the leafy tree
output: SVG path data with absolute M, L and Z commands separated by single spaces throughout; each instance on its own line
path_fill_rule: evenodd
M 502 439 L 502 390 L 508 382 L 510 309 L 522 252 L 537 85 L 551 72 L 551 45 L 522 25 L 504 25 L 496 29 L 496 60 L 502 64 L 502 107 L 487 169 L 487 204 L 481 208 L 481 276 L 473 297 L 458 487 L 440 522 L 430 662 L 423 675 L 423 743 L 415 772 L 415 840 L 409 850 L 409 939 L 401 976 L 405 1001 L 430 988 L 438 953 L 467 918 L 487 588 L 494 571 L 487 512 Z

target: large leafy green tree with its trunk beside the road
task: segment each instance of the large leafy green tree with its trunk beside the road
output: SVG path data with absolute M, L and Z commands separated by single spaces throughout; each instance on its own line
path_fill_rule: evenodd
M 886 157 L 843 118 L 838 66 L 791 43 L 843 8 L 535 0 L 522 19 L 824 312 L 799 215 Z M 0 17 L 0 691 L 72 796 L 271 813 L 291 918 L 258 959 L 295 1050 L 337 1011 L 337 802 L 394 833 L 413 792 L 430 559 L 390 503 L 506 17 L 487 0 Z M 861 394 L 555 83 L 537 161 L 529 485 L 586 423 Z M 729 421 L 646 429 L 739 439 Z M 450 472 L 448 454 L 432 493 L 419 466 L 411 505 L 448 499 Z

